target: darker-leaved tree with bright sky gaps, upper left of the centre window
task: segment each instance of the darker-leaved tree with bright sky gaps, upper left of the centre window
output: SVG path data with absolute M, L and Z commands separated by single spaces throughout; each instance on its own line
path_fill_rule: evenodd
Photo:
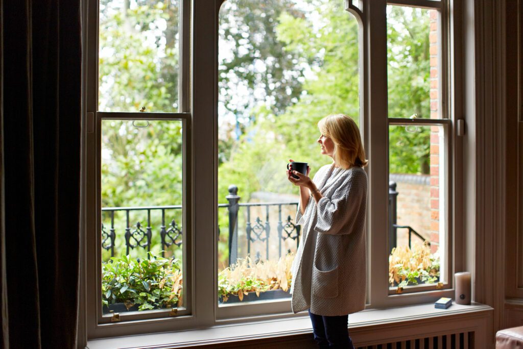
M 264 106 L 278 115 L 301 94 L 305 66 L 302 57 L 286 51 L 286 43 L 278 38 L 282 13 L 303 17 L 293 0 L 229 0 L 220 9 L 220 163 L 229 160 L 236 137 L 255 122 L 254 109 Z

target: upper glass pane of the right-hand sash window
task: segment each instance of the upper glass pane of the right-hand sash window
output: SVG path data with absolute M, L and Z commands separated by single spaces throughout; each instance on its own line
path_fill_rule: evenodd
M 441 118 L 439 12 L 389 5 L 389 118 Z

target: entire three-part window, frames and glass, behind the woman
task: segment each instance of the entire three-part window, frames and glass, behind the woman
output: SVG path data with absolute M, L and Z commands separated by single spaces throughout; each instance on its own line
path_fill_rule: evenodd
M 446 0 L 88 0 L 88 25 L 90 338 L 301 316 L 285 167 L 329 163 L 330 113 L 369 158 L 368 308 L 451 296 Z

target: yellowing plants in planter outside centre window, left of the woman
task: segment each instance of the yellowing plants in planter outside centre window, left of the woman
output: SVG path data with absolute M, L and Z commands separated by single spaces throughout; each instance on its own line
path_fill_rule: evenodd
M 218 295 L 223 302 L 231 296 L 243 301 L 249 293 L 260 294 L 281 289 L 287 292 L 292 281 L 291 267 L 294 254 L 289 253 L 278 261 L 260 260 L 252 262 L 251 258 L 240 259 L 230 267 L 218 273 Z

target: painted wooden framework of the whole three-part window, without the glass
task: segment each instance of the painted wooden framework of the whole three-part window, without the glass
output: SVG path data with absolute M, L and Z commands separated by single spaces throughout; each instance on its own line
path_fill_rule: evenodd
M 88 339 L 104 338 L 140 333 L 176 331 L 194 328 L 211 327 L 230 322 L 247 320 L 263 320 L 278 317 L 293 316 L 290 312 L 290 301 L 273 301 L 264 304 L 248 306 L 218 307 L 218 13 L 222 0 L 181 0 L 183 1 L 183 16 L 180 23 L 185 28 L 180 46 L 185 49 L 180 55 L 180 113 L 169 113 L 170 119 L 184 120 L 184 135 L 187 138 L 184 145 L 187 157 L 184 159 L 186 178 L 185 207 L 186 222 L 184 225 L 184 294 L 187 314 L 180 313 L 177 317 L 160 317 L 162 311 L 144 312 L 144 315 L 134 315 L 120 322 L 99 323 L 100 315 L 96 310 L 101 304 L 99 299 L 99 182 L 92 181 L 99 173 L 99 139 L 100 120 L 108 118 L 107 113 L 97 113 L 98 84 L 98 1 L 84 0 L 87 4 L 87 30 L 84 38 L 87 46 L 86 54 L 86 237 L 85 237 L 85 303 L 86 328 Z M 341 1 L 341 0 L 337 0 Z M 462 178 L 462 160 L 460 152 L 462 141 L 454 132 L 457 110 L 461 101 L 454 102 L 453 91 L 460 84 L 460 78 L 454 76 L 453 62 L 459 62 L 459 54 L 454 53 L 454 47 L 459 45 L 459 38 L 450 28 L 453 27 L 449 11 L 452 0 L 398 0 L 387 3 L 385 0 L 363 0 L 356 7 L 352 1 L 346 0 L 346 8 L 360 23 L 360 115 L 361 132 L 370 161 L 369 175 L 369 210 L 368 210 L 368 308 L 385 308 L 427 303 L 447 296 L 452 297 L 452 280 L 444 289 L 431 289 L 412 294 L 391 295 L 388 285 L 388 250 L 385 243 L 388 236 L 388 222 L 382 217 L 388 217 L 388 130 L 391 120 L 387 117 L 387 84 L 386 84 L 386 15 L 387 4 L 430 7 L 441 6 L 445 14 L 445 28 L 441 35 L 449 46 L 445 55 L 448 57 L 448 67 L 445 76 L 448 78 L 441 86 L 445 99 L 449 101 L 446 119 L 431 120 L 435 124 L 444 125 L 448 129 L 448 141 L 452 147 L 448 155 L 450 162 L 448 183 Z M 371 5 L 372 4 L 372 5 Z M 362 7 L 362 10 L 360 8 Z M 443 18 L 444 16 L 442 16 Z M 190 44 L 189 44 L 190 43 Z M 443 59 L 443 58 L 442 58 Z M 445 60 L 447 58 L 444 58 Z M 445 62 L 445 61 L 443 61 Z M 459 75 L 456 75 L 459 76 Z M 445 85 L 444 85 L 445 84 Z M 459 90 L 459 89 L 458 89 Z M 90 93 L 89 93 L 90 92 Z M 458 105 L 459 104 L 459 105 Z M 444 109 L 441 109 L 444 110 Z M 126 115 L 123 115 L 126 114 Z M 164 118 L 163 113 L 149 116 Z M 113 114 L 117 119 L 131 118 L 127 113 Z M 139 115 L 142 119 L 142 115 Z M 393 120 L 392 120 L 393 122 Z M 424 121 L 422 121 L 423 123 Z M 186 132 L 187 131 L 187 132 Z M 99 177 L 98 177 L 99 178 Z M 456 226 L 462 226 L 460 205 L 454 202 L 462 201 L 461 190 L 449 186 L 449 231 L 457 231 Z M 461 210 L 461 211 L 460 211 Z M 460 234 L 462 234 L 460 232 Z M 449 235 L 449 242 L 457 238 L 457 233 Z M 453 243 L 449 243 L 447 253 L 449 261 L 448 273 L 461 270 L 464 265 L 462 257 L 451 254 Z M 187 273 L 187 274 L 185 274 Z M 194 277 L 191 277 L 194 275 Z M 187 282 L 186 282 L 187 277 Z M 97 296 L 98 295 L 98 296 Z M 151 316 L 146 314 L 152 314 Z M 299 314 L 296 316 L 303 316 Z M 126 321 L 126 320 L 134 321 Z

